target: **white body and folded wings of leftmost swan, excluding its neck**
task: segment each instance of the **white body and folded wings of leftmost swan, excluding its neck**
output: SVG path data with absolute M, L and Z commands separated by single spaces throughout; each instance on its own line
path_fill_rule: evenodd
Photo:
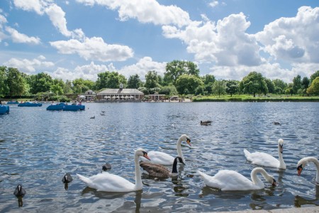
M 118 175 L 110 173 L 99 173 L 90 178 L 82 175 L 77 176 L 86 183 L 88 187 L 104 192 L 130 192 L 135 190 L 135 184 Z

